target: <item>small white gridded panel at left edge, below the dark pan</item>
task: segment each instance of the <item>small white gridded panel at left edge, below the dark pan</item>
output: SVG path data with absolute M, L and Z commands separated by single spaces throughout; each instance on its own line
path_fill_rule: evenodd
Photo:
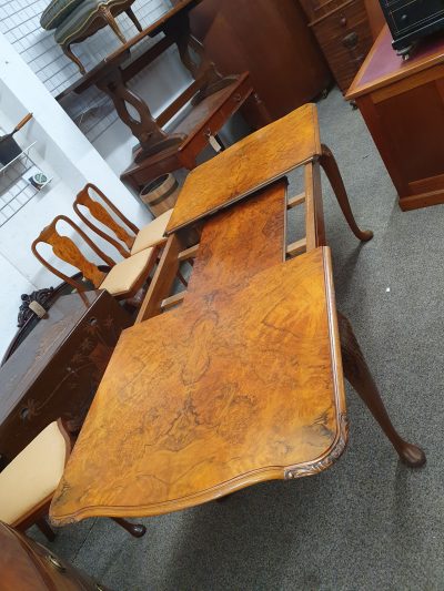
M 0 227 L 52 181 L 52 177 L 48 177 L 48 181 L 40 187 L 31 184 L 32 175 L 43 172 L 30 155 L 36 144 L 37 142 L 32 142 L 0 169 Z

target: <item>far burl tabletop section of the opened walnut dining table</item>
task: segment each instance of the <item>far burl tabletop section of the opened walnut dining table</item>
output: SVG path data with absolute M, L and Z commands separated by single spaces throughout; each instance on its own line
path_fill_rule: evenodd
M 167 234 L 249 195 L 321 153 L 316 106 L 309 103 L 191 171 Z

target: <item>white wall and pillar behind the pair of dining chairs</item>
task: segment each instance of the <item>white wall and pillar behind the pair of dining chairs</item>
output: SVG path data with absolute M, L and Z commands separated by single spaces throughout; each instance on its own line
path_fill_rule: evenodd
M 150 215 L 1 34 L 0 81 L 0 125 L 10 126 L 32 112 L 33 121 L 18 135 L 18 141 L 23 145 L 38 140 L 37 160 L 56 176 L 49 191 L 39 194 L 0 227 L 1 355 L 17 330 L 21 293 L 59 283 L 42 269 L 30 245 L 56 215 L 72 215 L 74 194 L 87 180 L 100 186 L 135 223 L 147 223 Z

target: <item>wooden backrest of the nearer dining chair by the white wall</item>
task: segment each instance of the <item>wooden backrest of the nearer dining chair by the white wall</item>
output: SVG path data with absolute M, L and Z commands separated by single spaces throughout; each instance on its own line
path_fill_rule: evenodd
M 113 267 L 115 265 L 115 262 L 108 256 L 105 253 L 103 253 L 92 241 L 91 238 L 74 223 L 72 220 L 67 217 L 65 215 L 58 215 L 54 217 L 54 220 L 42 230 L 40 235 L 34 240 L 34 242 L 31 245 L 31 251 L 33 255 L 40 261 L 40 263 L 46 266 L 51 273 L 67 282 L 68 284 L 72 285 L 75 289 L 79 292 L 85 291 L 85 285 L 82 282 L 78 282 L 70 277 L 69 275 L 65 275 L 61 271 L 53 267 L 43 256 L 38 252 L 37 245 L 39 243 L 46 243 L 49 244 L 52 247 L 52 252 L 56 256 L 58 256 L 61 261 L 64 261 L 69 265 L 74 266 L 78 268 L 82 274 L 83 277 L 89 279 L 95 288 L 100 287 L 101 283 L 103 282 L 104 277 L 107 276 L 107 273 L 103 271 L 100 271 L 100 268 L 94 264 L 88 261 L 88 258 L 83 255 L 83 253 L 80 251 L 79 246 L 72 241 L 72 238 L 68 236 L 61 235 L 57 230 L 58 222 L 63 221 L 69 226 L 71 226 L 79 235 L 80 237 L 90 246 L 90 248 L 100 256 L 100 258 L 110 267 Z

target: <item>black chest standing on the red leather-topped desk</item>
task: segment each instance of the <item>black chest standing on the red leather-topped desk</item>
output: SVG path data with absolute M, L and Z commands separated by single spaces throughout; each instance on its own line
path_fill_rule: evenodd
M 444 0 L 380 0 L 393 47 L 408 53 L 412 42 L 444 29 Z

